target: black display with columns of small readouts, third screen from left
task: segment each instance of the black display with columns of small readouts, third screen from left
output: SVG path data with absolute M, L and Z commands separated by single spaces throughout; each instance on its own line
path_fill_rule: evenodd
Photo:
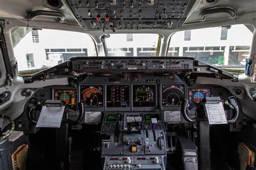
M 106 107 L 127 108 L 130 107 L 130 86 L 107 85 Z

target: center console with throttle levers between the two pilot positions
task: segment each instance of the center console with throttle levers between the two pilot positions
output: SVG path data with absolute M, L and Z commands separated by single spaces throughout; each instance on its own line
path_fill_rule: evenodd
M 165 169 L 165 129 L 161 112 L 105 113 L 104 169 Z

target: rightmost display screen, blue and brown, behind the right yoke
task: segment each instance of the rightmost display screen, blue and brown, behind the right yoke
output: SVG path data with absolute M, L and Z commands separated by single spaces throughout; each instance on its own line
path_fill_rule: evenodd
M 211 96 L 211 89 L 210 88 L 195 88 L 195 89 L 188 89 L 188 101 L 190 106 L 188 107 L 190 110 L 196 110 L 197 104 L 203 100 L 205 97 Z

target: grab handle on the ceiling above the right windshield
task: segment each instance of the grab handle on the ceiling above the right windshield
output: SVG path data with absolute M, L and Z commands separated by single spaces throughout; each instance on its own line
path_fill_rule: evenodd
M 217 9 L 208 9 L 204 10 L 199 13 L 199 18 L 201 22 L 204 22 L 207 15 L 213 15 L 216 13 L 226 13 L 228 16 L 230 16 L 230 19 L 235 18 L 235 12 L 232 9 L 229 8 L 217 8 Z

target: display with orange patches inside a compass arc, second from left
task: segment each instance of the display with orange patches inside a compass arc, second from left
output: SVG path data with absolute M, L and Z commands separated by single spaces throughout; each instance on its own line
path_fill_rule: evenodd
M 102 108 L 103 86 L 80 86 L 80 101 L 85 108 Z

